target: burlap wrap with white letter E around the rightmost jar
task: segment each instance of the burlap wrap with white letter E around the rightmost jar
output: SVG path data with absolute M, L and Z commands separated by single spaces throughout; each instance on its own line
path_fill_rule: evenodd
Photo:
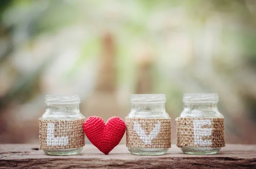
M 224 118 L 176 118 L 177 146 L 224 147 Z

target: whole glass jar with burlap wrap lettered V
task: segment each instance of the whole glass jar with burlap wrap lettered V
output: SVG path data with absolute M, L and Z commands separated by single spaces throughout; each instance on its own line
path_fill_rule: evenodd
M 163 155 L 171 147 L 171 118 L 164 94 L 131 95 L 125 118 L 126 146 L 134 155 Z

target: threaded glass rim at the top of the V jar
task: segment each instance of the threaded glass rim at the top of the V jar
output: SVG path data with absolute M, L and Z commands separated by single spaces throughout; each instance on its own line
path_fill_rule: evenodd
M 165 94 L 132 94 L 131 103 L 165 103 Z

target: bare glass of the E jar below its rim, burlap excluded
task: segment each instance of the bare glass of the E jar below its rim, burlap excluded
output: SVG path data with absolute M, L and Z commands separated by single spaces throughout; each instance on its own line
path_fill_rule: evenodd
M 180 114 L 182 118 L 224 118 L 218 111 L 217 102 L 184 102 L 184 109 Z M 194 147 L 183 146 L 181 150 L 185 154 L 210 155 L 216 154 L 221 147 Z

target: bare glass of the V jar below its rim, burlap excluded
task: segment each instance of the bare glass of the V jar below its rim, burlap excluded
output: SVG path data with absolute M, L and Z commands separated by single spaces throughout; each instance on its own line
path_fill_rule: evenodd
M 169 115 L 166 113 L 165 103 L 132 103 L 127 118 L 168 119 Z M 163 155 L 169 148 L 128 147 L 128 150 L 134 155 Z

